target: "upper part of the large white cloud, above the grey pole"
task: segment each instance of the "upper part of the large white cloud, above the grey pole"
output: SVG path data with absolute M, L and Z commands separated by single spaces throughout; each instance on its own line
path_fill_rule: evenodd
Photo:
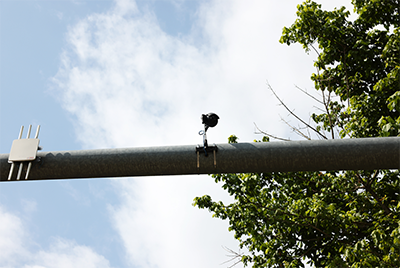
M 279 45 L 280 29 L 268 30 L 268 4 L 246 11 L 217 3 L 199 12 L 200 44 L 167 35 L 150 14 L 119 13 L 119 3 L 72 28 L 57 79 L 86 147 L 198 142 L 199 117 L 209 111 L 221 116 L 218 142 L 232 133 L 252 139 L 253 121 L 272 128 L 265 115 L 277 102 L 266 79 L 292 89 L 305 68 L 290 72 L 293 50 Z

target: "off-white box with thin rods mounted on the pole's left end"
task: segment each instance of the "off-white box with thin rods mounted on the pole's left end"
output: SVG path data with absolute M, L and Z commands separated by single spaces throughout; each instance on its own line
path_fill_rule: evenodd
M 19 136 L 17 140 L 14 140 L 11 146 L 11 151 L 8 156 L 8 163 L 11 163 L 10 173 L 8 174 L 8 180 L 11 180 L 14 166 L 16 163 L 19 164 L 17 180 L 21 178 L 22 169 L 24 166 L 24 162 L 28 163 L 28 168 L 25 174 L 25 180 L 29 177 L 29 172 L 32 167 L 32 162 L 36 159 L 36 153 L 41 148 L 39 147 L 39 130 L 40 125 L 36 129 L 36 135 L 34 139 L 30 139 L 29 136 L 31 135 L 32 125 L 29 125 L 28 134 L 26 139 L 21 139 L 22 132 L 24 131 L 24 126 L 21 126 L 21 130 L 19 132 Z

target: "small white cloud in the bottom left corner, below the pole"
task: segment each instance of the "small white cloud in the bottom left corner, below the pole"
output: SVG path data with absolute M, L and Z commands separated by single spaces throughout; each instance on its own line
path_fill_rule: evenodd
M 25 202 L 25 201 L 24 201 Z M 28 214 L 36 208 L 26 201 Z M 36 250 L 37 245 L 20 217 L 0 206 L 0 267 L 110 267 L 109 261 L 90 247 L 73 241 L 54 238 L 48 250 Z M 35 245 L 35 246 L 33 246 Z

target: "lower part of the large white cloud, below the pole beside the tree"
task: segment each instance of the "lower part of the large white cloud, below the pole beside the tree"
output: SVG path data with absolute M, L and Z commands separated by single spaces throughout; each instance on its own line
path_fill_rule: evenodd
M 111 213 L 132 265 L 216 267 L 227 259 L 222 246 L 236 249 L 226 223 L 191 206 L 195 196 L 221 197 L 209 178 L 151 177 L 116 187 L 122 202 Z

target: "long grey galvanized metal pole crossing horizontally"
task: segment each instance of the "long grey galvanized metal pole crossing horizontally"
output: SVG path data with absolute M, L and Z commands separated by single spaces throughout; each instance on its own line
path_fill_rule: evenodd
M 397 137 L 217 147 L 215 156 L 208 157 L 198 156 L 193 145 L 38 152 L 40 161 L 33 162 L 29 180 L 400 168 Z M 7 160 L 8 154 L 0 154 L 0 181 L 8 181 Z

